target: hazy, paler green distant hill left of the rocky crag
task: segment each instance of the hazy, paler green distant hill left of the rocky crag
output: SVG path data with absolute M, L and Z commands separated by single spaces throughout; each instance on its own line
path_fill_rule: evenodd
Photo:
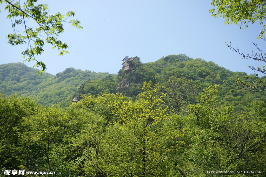
M 59 107 L 68 106 L 74 93 L 81 83 L 89 79 L 101 79 L 109 73 L 95 73 L 92 71 L 67 68 L 56 76 L 47 72 L 39 76 L 39 70 L 27 67 L 23 63 L 9 63 L 0 65 L 0 91 L 6 96 L 15 95 L 32 97 L 43 106 L 58 104 Z M 110 75 L 114 77 L 115 74 Z

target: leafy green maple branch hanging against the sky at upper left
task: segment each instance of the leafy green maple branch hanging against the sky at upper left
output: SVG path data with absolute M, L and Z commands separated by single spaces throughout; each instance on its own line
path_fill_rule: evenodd
M 68 22 L 66 21 L 66 19 L 74 16 L 74 12 L 67 12 L 67 18 L 64 19 L 64 15 L 61 15 L 59 12 L 53 15 L 48 15 L 48 5 L 35 5 L 37 0 L 27 1 L 23 6 L 20 6 L 19 2 L 5 2 L 7 4 L 5 10 L 9 12 L 9 15 L 7 17 L 11 20 L 13 18 L 20 18 L 18 20 L 15 19 L 15 23 L 12 24 L 14 31 L 16 25 L 23 25 L 23 28 L 25 28 L 24 33 L 26 34 L 25 36 L 16 34 L 16 32 L 14 34 L 9 34 L 7 36 L 7 38 L 9 39 L 9 44 L 18 45 L 27 42 L 28 48 L 27 50 L 24 50 L 22 52 L 23 58 L 27 57 L 25 61 L 36 61 L 35 66 L 42 67 L 40 74 L 47 68 L 45 64 L 36 60 L 35 56 L 41 54 L 44 51 L 44 41 L 51 44 L 53 48 L 61 50 L 59 53 L 60 56 L 69 53 L 68 51 L 65 51 L 65 49 L 68 48 L 66 43 L 57 40 L 57 37 L 59 33 L 64 32 L 63 22 Z M 36 27 L 33 28 L 27 26 L 27 21 L 25 20 L 26 18 L 34 20 L 36 22 Z M 71 23 L 73 27 L 77 27 L 79 29 L 82 28 L 80 26 L 80 21 L 77 19 L 70 20 L 70 22 L 68 23 Z M 46 36 L 46 38 L 44 36 Z

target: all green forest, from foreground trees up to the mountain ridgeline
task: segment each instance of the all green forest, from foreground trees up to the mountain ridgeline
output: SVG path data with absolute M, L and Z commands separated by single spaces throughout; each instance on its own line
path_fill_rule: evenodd
M 39 76 L 22 63 L 0 65 L 0 168 L 264 176 L 265 92 L 231 92 L 246 73 L 185 54 L 122 61 L 118 74 L 67 68 Z

